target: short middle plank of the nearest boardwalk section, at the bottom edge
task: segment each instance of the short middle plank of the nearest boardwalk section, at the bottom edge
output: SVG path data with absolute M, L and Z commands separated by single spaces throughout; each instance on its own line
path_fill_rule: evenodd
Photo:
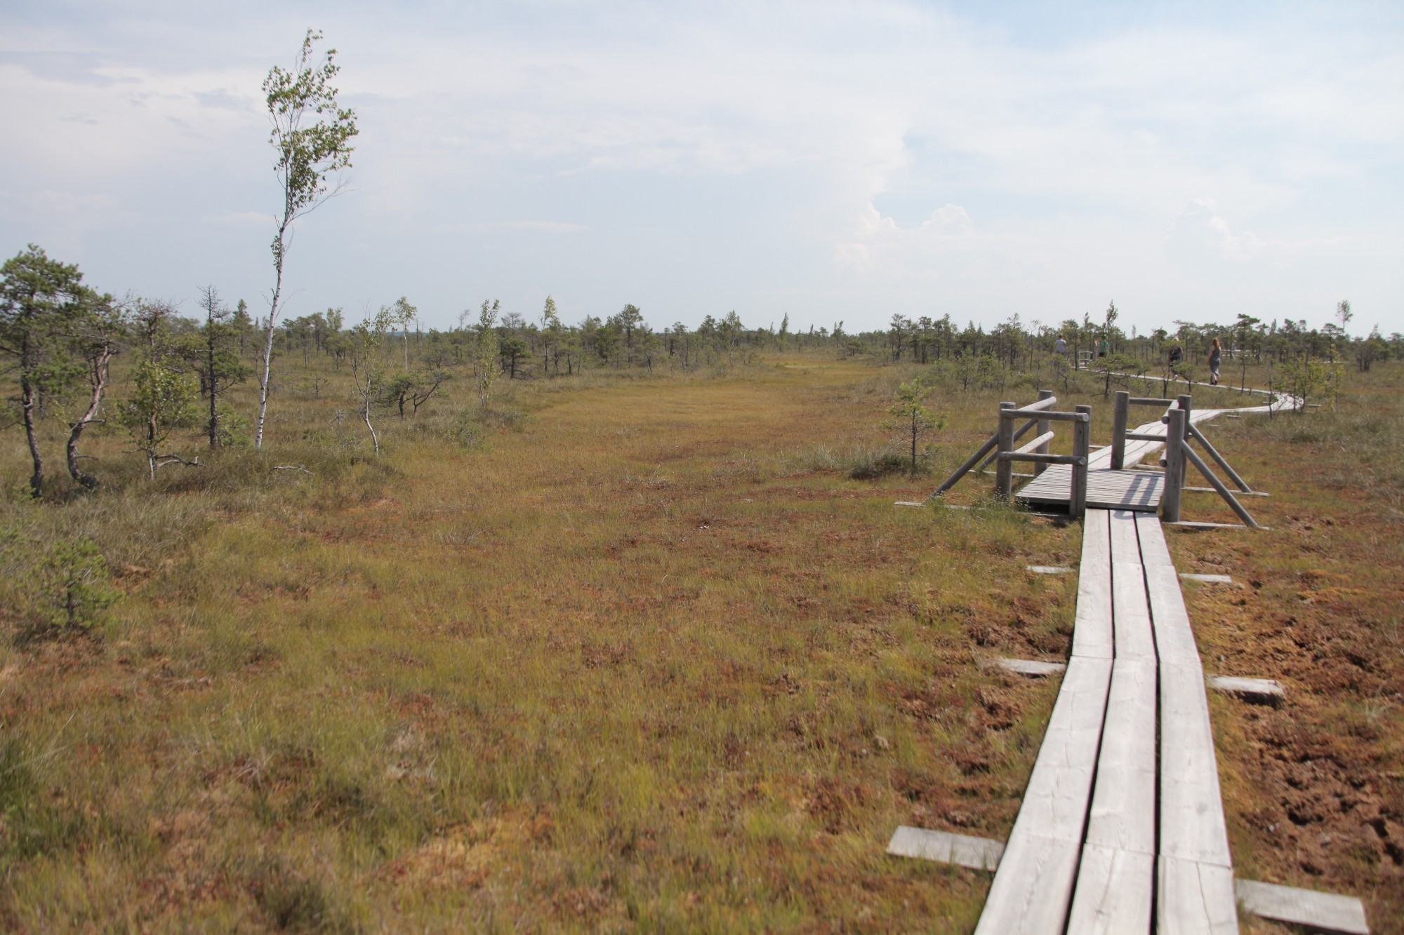
M 1082 847 L 1067 931 L 1077 935 L 1148 932 L 1155 856 Z

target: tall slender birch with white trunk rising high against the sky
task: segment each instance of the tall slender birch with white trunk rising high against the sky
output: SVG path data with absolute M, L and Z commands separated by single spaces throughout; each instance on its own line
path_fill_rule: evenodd
M 320 62 L 313 53 L 313 46 L 320 39 L 322 32 L 307 29 L 292 70 L 275 65 L 263 83 L 268 118 L 272 121 L 268 142 L 278 153 L 274 173 L 282 188 L 282 215 L 271 244 L 274 286 L 268 302 L 263 368 L 258 373 L 258 428 L 254 448 L 263 448 L 272 341 L 281 310 L 284 261 L 288 257 L 292 225 L 343 191 L 340 181 L 333 184 L 331 178 L 351 167 L 351 138 L 359 132 L 355 111 L 337 102 L 337 88 L 331 86 L 341 70 L 336 65 L 337 51 L 327 49 Z

